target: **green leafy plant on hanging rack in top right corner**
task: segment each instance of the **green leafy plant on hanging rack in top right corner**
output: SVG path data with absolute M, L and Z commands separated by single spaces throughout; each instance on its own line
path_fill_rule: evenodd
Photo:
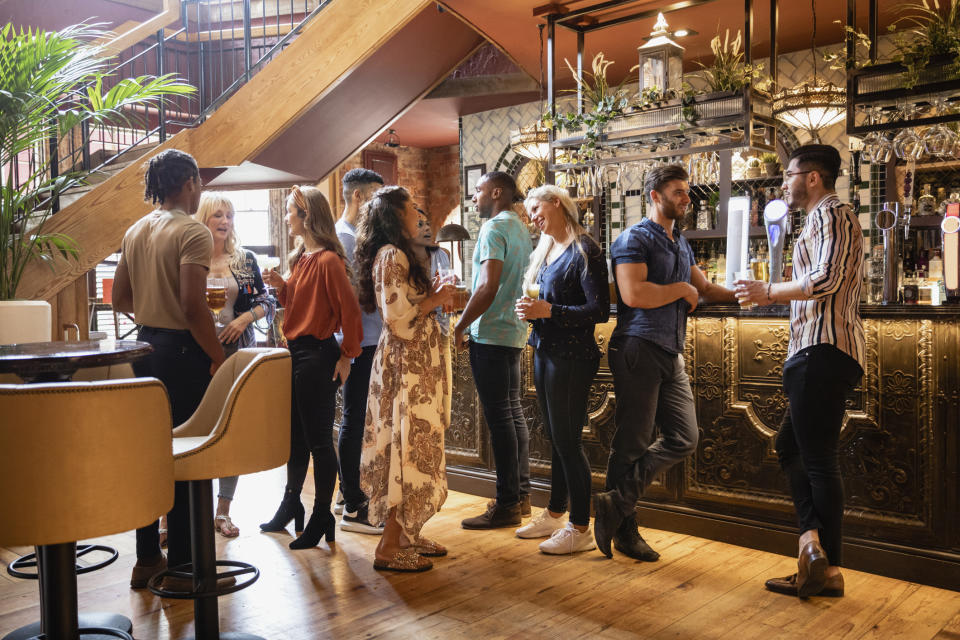
M 950 56 L 951 76 L 960 75 L 960 0 L 949 0 L 946 15 L 939 0 L 908 2 L 900 9 L 904 15 L 890 25 L 907 27 L 894 37 L 893 60 L 906 69 L 904 86 L 912 89 L 920 82 L 920 72 L 935 56 Z

